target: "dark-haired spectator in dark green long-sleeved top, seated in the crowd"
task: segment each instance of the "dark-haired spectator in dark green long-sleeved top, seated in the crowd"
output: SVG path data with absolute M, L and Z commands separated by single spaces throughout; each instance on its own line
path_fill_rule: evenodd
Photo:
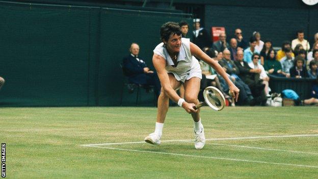
M 269 59 L 264 60 L 264 69 L 266 73 L 275 75 L 278 77 L 285 77 L 286 73 L 282 71 L 282 67 L 279 61 L 276 60 L 275 50 L 270 49 Z

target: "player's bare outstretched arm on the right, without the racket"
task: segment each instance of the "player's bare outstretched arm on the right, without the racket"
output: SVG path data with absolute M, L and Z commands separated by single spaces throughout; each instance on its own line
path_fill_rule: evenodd
M 206 55 L 196 44 L 190 42 L 190 50 L 191 50 L 191 54 L 198 57 L 199 59 L 203 60 L 204 62 L 206 62 L 207 64 L 209 64 L 211 67 L 213 67 L 222 77 L 223 79 L 226 81 L 226 83 L 228 84 L 230 90 L 229 93 L 232 95 L 233 98 L 235 98 L 235 100 L 237 101 L 237 98 L 239 97 L 239 88 L 237 88 L 233 82 L 228 78 L 226 72 L 224 71 L 224 69 L 221 67 L 221 65 L 211 59 L 208 55 Z

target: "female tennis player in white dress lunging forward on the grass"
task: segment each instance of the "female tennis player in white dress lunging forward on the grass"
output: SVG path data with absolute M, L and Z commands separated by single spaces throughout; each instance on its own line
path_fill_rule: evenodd
M 169 108 L 169 98 L 192 115 L 194 120 L 195 148 L 201 149 L 205 144 L 204 129 L 200 119 L 200 110 L 193 107 L 199 104 L 198 93 L 201 69 L 198 60 L 203 60 L 213 67 L 228 83 L 230 93 L 237 101 L 239 89 L 230 81 L 219 63 L 207 56 L 189 39 L 181 38 L 181 30 L 176 22 L 167 22 L 160 29 L 162 43 L 153 50 L 152 63 L 157 71 L 162 89 L 158 97 L 157 120 L 155 131 L 145 138 L 150 144 L 160 145 L 162 130 Z M 175 92 L 184 85 L 184 98 Z

